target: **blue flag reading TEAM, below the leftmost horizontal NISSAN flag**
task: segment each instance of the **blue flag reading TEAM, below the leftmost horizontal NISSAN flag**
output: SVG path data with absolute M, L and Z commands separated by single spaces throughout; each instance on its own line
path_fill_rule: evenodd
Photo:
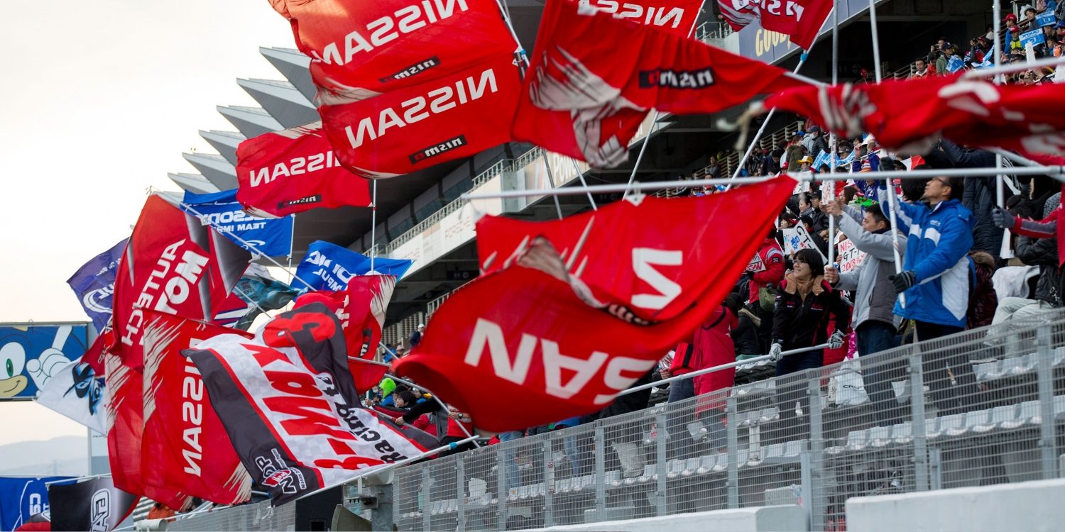
M 219 233 L 252 253 L 281 256 L 292 252 L 292 216 L 282 218 L 251 216 L 236 202 L 235 188 L 214 194 L 185 192 L 181 210 L 199 218 L 204 226 L 223 228 L 218 230 Z M 256 249 L 233 237 L 230 232 Z

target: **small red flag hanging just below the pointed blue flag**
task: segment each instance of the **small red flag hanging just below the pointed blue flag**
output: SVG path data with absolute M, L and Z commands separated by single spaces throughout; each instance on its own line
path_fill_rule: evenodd
M 337 314 L 347 344 L 347 367 L 359 392 L 376 386 L 388 370 L 386 366 L 353 361 L 350 358 L 374 360 L 377 346 L 381 343 L 384 313 L 395 286 L 395 276 L 356 276 L 343 292 L 311 292 L 296 300 L 297 307 L 323 303 Z

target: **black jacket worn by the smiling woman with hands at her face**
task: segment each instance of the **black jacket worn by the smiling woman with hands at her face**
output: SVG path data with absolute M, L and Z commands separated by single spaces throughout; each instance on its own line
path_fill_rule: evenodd
M 788 275 L 776 290 L 773 311 L 773 343 L 781 344 L 785 351 L 824 344 L 829 339 L 830 314 L 835 316 L 837 331 L 847 331 L 850 312 L 840 297 L 823 278 L 819 278 L 814 290 L 803 299 L 792 275 Z

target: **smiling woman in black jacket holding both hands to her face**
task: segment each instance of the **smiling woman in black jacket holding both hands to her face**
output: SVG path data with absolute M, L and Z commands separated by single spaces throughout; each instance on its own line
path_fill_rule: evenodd
M 835 332 L 828 337 L 829 321 L 835 317 Z M 819 368 L 823 364 L 824 351 L 816 349 L 803 353 L 783 356 L 783 351 L 814 347 L 829 343 L 832 349 L 843 345 L 843 335 L 849 325 L 847 303 L 824 280 L 824 263 L 817 250 L 801 249 L 796 252 L 794 269 L 784 279 L 776 293 L 773 312 L 773 344 L 769 349 L 771 360 L 776 363 L 776 376 L 785 376 L 805 369 Z M 777 434 L 793 434 L 798 429 L 796 401 L 806 397 L 805 382 L 785 383 L 777 381 L 781 421 Z M 803 411 L 808 409 L 808 399 L 803 399 Z

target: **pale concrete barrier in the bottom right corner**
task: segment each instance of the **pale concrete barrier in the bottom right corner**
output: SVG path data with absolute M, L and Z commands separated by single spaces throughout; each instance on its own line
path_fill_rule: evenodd
M 1065 480 L 1037 480 L 847 501 L 850 532 L 1065 530 Z

